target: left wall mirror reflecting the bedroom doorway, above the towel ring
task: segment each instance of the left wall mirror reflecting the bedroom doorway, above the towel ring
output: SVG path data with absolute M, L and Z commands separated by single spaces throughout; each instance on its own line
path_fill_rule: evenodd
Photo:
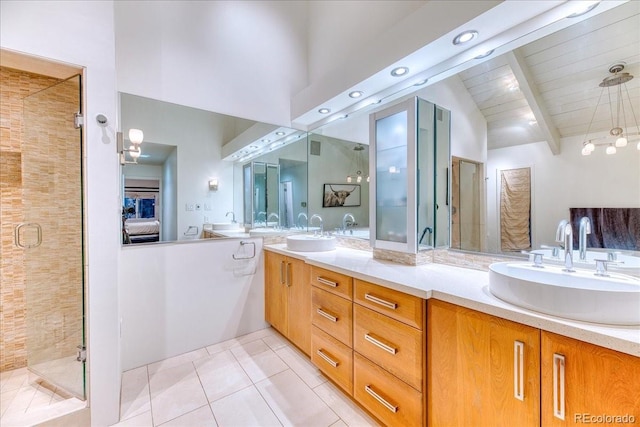
M 223 160 L 221 147 L 255 129 L 276 126 L 125 93 L 120 113 L 125 139 L 130 128 L 144 132 L 140 157 L 129 163 L 133 159 L 127 153 L 122 166 L 124 244 L 195 240 L 204 224 L 243 223 L 246 162 Z M 249 163 L 255 165 L 252 200 L 261 203 L 250 217 L 268 211 L 260 214 L 263 226 L 288 226 L 306 212 L 305 136 L 297 132 L 289 145 L 267 148 Z

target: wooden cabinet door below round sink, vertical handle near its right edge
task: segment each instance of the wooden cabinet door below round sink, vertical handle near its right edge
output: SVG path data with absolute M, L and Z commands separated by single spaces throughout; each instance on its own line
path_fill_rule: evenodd
M 539 426 L 540 331 L 437 300 L 427 309 L 430 426 Z

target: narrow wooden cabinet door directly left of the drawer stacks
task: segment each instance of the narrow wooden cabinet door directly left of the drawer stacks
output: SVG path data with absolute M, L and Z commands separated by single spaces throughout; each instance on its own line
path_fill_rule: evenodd
M 299 259 L 287 258 L 288 338 L 307 355 L 311 351 L 311 283 L 309 266 Z

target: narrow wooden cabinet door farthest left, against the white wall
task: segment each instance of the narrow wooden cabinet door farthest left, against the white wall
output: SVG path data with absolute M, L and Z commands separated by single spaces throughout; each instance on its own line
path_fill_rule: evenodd
M 288 334 L 286 267 L 286 257 L 264 252 L 265 320 L 285 336 Z

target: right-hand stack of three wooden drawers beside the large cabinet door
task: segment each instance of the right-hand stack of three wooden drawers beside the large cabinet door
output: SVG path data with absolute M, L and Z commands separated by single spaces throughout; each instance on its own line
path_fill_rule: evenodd
M 355 399 L 389 426 L 424 425 L 425 300 L 354 279 Z

